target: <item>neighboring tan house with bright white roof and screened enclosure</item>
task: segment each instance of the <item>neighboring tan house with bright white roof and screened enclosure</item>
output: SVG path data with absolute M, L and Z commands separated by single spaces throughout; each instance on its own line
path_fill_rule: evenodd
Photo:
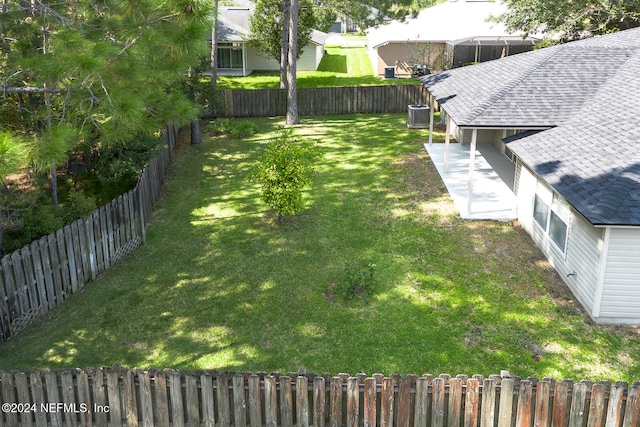
M 498 1 L 449 0 L 404 22 L 370 28 L 367 38 L 374 73 L 385 76 L 392 67 L 396 77 L 407 77 L 413 65 L 426 64 L 439 71 L 532 50 L 538 39 L 509 34 L 503 24 L 487 22 L 504 10 Z

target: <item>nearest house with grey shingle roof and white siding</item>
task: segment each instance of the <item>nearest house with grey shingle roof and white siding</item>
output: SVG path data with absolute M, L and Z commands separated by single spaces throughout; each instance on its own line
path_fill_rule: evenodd
M 640 28 L 421 80 L 471 159 L 511 159 L 518 221 L 592 319 L 640 325 Z

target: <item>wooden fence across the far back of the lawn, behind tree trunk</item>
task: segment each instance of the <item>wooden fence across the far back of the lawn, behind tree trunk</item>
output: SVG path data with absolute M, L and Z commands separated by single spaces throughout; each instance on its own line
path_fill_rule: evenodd
M 422 85 L 300 88 L 301 116 L 355 113 L 401 113 L 410 104 L 424 104 Z M 287 113 L 285 89 L 222 91 L 227 117 L 275 117 Z

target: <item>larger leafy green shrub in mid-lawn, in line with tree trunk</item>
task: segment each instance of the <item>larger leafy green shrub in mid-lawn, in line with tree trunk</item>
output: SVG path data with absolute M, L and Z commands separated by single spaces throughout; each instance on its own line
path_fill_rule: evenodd
M 284 215 L 296 215 L 304 208 L 302 192 L 311 185 L 313 157 L 292 129 L 281 128 L 249 175 L 249 180 L 260 184 L 262 199 L 278 212 L 280 222 Z

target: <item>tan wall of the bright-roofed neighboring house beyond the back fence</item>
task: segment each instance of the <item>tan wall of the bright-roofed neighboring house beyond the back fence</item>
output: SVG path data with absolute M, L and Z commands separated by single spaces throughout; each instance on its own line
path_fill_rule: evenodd
M 385 67 L 395 67 L 396 77 L 411 77 L 411 67 L 430 53 L 430 64 L 439 68 L 444 43 L 389 43 L 369 49 L 374 73 L 384 77 Z

